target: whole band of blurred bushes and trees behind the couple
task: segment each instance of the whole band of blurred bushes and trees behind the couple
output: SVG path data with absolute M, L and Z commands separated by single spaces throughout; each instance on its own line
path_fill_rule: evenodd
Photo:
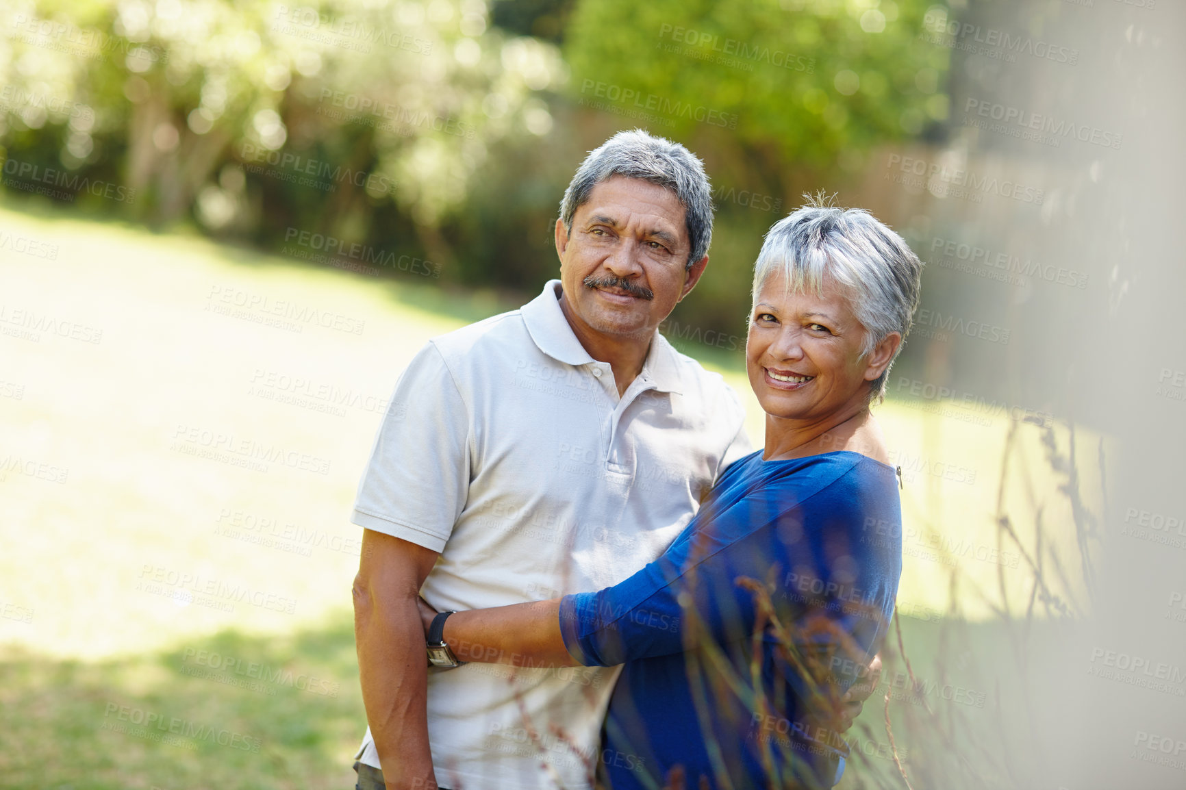
M 0 12 L 4 185 L 270 251 L 320 234 L 531 293 L 575 165 L 642 126 L 706 159 L 719 206 L 712 287 L 675 318 L 741 335 L 766 228 L 944 119 L 949 50 L 916 39 L 926 5 L 17 0 Z

